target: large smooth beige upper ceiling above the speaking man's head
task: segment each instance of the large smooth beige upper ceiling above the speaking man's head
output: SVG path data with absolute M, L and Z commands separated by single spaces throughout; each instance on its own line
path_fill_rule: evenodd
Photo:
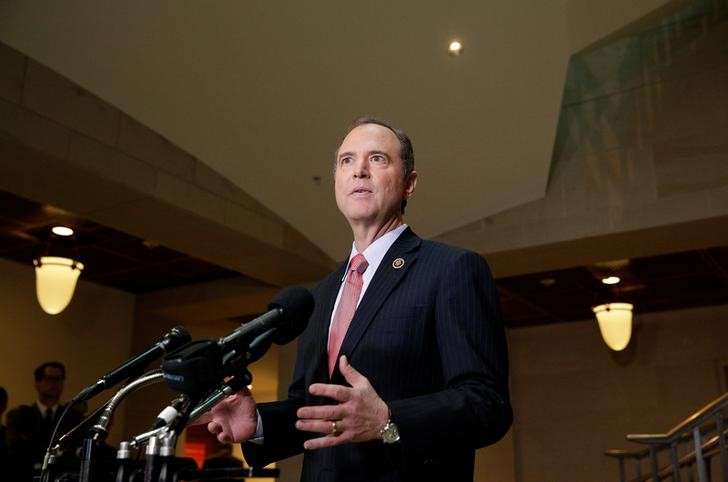
M 328 181 L 356 117 L 388 119 L 415 140 L 408 220 L 434 237 L 543 197 L 569 58 L 682 3 L 18 0 L 0 4 L 0 40 L 203 160 L 338 259 L 350 233 Z M 447 53 L 453 38 L 458 57 Z

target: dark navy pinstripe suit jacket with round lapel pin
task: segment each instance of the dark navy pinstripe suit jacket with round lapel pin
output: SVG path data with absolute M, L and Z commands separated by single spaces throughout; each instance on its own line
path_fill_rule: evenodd
M 404 260 L 395 268 L 394 260 Z M 330 378 L 328 326 L 344 263 L 314 290 L 316 307 L 301 335 L 289 398 L 260 404 L 265 440 L 246 443 L 253 466 L 300 453 L 296 409 L 330 404 L 307 392 Z M 306 452 L 301 480 L 470 481 L 475 449 L 512 421 L 508 355 L 496 289 L 476 253 L 423 241 L 409 228 L 384 256 L 341 346 L 392 411 L 401 441 L 345 444 Z

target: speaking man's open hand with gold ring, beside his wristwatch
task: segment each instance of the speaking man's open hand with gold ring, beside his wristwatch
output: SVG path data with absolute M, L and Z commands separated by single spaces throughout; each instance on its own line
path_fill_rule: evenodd
M 306 450 L 380 439 L 379 432 L 389 419 L 387 404 L 379 398 L 369 380 L 349 365 L 346 356 L 339 359 L 339 368 L 351 387 L 314 383 L 308 389 L 312 395 L 339 403 L 298 409 L 298 430 L 327 434 L 307 440 L 303 444 Z

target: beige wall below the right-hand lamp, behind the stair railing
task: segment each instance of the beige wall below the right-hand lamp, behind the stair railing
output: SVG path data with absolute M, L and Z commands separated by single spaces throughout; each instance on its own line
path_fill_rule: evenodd
M 630 346 L 611 352 L 596 321 L 508 333 L 516 480 L 618 480 L 611 448 L 660 433 L 725 384 L 728 306 L 638 314 Z

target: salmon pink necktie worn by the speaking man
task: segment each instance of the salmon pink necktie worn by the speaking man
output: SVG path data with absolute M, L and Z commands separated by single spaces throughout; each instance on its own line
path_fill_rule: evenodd
M 359 301 L 361 287 L 363 284 L 362 274 L 369 266 L 366 258 L 361 253 L 351 258 L 349 273 L 344 282 L 344 289 L 341 292 L 339 305 L 336 307 L 334 319 L 331 322 L 331 333 L 329 334 L 329 375 L 333 375 L 336 367 L 336 359 L 341 349 L 341 342 L 344 341 L 346 330 L 354 317 L 356 304 Z

